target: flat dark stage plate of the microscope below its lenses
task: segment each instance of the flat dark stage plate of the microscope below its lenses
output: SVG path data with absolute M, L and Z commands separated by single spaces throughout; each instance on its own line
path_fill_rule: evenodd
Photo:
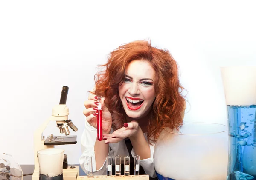
M 50 136 L 44 140 L 44 145 L 64 145 L 64 144 L 76 144 L 76 137 L 77 136 Z

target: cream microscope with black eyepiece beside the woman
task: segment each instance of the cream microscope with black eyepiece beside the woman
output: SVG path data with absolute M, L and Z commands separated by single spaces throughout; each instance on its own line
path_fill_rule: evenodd
M 32 175 L 32 180 L 39 180 L 39 163 L 37 152 L 41 149 L 53 148 L 55 145 L 76 144 L 77 136 L 68 136 L 70 134 L 69 127 L 73 131 L 77 131 L 77 127 L 68 119 L 69 109 L 66 106 L 68 87 L 63 86 L 61 91 L 60 103 L 53 107 L 52 116 L 49 117 L 34 133 L 34 163 L 35 169 Z M 56 121 L 60 133 L 65 133 L 65 136 L 53 136 L 52 134 L 46 139 L 43 136 L 44 129 L 50 121 Z M 63 169 L 64 180 L 76 180 L 79 176 L 79 166 L 67 166 Z

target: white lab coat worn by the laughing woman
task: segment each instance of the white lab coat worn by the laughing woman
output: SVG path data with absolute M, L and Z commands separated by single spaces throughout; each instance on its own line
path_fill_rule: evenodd
M 111 133 L 113 132 L 113 129 L 111 129 Z M 147 139 L 147 134 L 144 133 L 144 137 Z M 95 153 L 94 153 L 94 144 L 95 140 L 97 138 L 97 129 L 93 126 L 90 126 L 90 124 L 85 120 L 85 129 L 83 131 L 82 137 L 81 137 L 81 150 L 82 155 L 79 158 L 79 163 L 81 165 L 81 168 L 84 170 L 84 172 L 87 174 L 87 167 L 84 166 L 84 162 L 86 162 L 86 156 L 92 156 L 92 162 L 93 162 L 93 175 L 106 175 L 106 160 L 103 164 L 103 166 L 96 171 L 96 162 L 95 162 Z M 154 143 L 153 143 L 154 145 Z M 120 155 L 123 157 L 126 155 L 129 155 L 128 149 L 125 145 L 125 140 L 120 141 L 119 143 L 110 143 L 110 151 L 108 155 L 113 156 L 113 165 L 115 164 L 115 156 Z M 143 167 L 146 174 L 148 174 L 150 177 L 157 177 L 155 170 L 154 170 L 154 160 L 153 160 L 153 154 L 154 154 L 154 146 L 150 146 L 150 158 L 140 160 L 140 165 Z M 131 151 L 131 155 L 134 157 L 136 154 L 134 152 L 134 149 Z

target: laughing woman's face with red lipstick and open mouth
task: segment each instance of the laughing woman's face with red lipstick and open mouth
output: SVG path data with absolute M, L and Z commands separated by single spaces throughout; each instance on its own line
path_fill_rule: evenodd
M 128 117 L 137 119 L 148 114 L 156 97 L 155 71 L 144 60 L 133 60 L 125 71 L 125 80 L 119 86 L 119 97 Z

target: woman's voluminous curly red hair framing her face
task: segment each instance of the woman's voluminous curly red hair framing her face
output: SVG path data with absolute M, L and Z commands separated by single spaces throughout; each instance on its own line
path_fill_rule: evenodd
M 178 66 L 168 50 L 157 49 L 148 41 L 134 41 L 119 46 L 108 56 L 108 62 L 99 67 L 104 71 L 95 74 L 95 94 L 104 96 L 105 104 L 112 114 L 112 127 L 119 129 L 125 123 L 125 111 L 118 87 L 125 79 L 125 69 L 132 60 L 148 61 L 156 72 L 156 98 L 147 125 L 148 142 L 156 141 L 162 129 L 177 128 L 183 122 L 185 99 L 178 79 Z

